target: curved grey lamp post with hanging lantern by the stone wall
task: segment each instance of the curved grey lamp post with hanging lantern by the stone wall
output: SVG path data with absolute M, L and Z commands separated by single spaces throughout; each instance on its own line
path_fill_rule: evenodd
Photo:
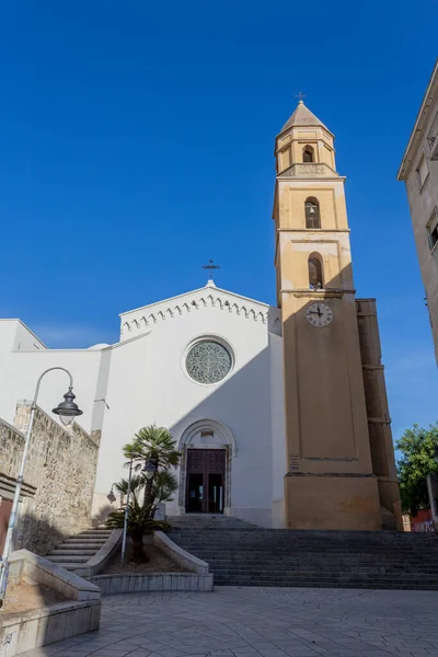
M 8 573 L 9 573 L 9 561 L 8 560 L 9 560 L 9 553 L 11 550 L 12 533 L 13 533 L 13 530 L 15 527 L 16 511 L 19 508 L 21 488 L 23 485 L 24 465 L 26 462 L 28 445 L 31 442 L 32 428 L 33 428 L 35 411 L 36 411 L 36 401 L 38 399 L 38 393 L 39 393 L 39 385 L 41 385 L 43 377 L 45 374 L 47 374 L 47 372 L 51 372 L 53 370 L 62 370 L 64 372 L 66 372 L 69 376 L 70 385 L 68 388 L 68 391 L 64 395 L 64 402 L 60 402 L 58 404 L 58 406 L 56 408 L 54 408 L 51 412 L 55 413 L 56 415 L 59 415 L 59 419 L 61 420 L 61 423 L 65 426 L 68 426 L 74 419 L 74 417 L 78 417 L 78 415 L 82 415 L 82 411 L 79 408 L 78 404 L 74 403 L 73 377 L 71 376 L 71 373 L 64 367 L 50 367 L 50 368 L 46 369 L 36 382 L 35 395 L 34 395 L 34 400 L 33 400 L 32 406 L 31 406 L 31 417 L 30 417 L 28 426 L 27 426 L 27 430 L 26 430 L 26 438 L 24 440 L 24 449 L 23 449 L 23 456 L 21 459 L 20 472 L 19 472 L 19 476 L 16 477 L 15 492 L 14 492 L 14 497 L 13 497 L 13 502 L 12 502 L 12 509 L 11 509 L 11 515 L 9 517 L 8 532 L 7 532 L 7 538 L 4 541 L 3 554 L 1 556 L 1 562 L 0 562 L 0 608 L 3 606 L 3 601 L 4 601 L 4 598 L 7 595 Z

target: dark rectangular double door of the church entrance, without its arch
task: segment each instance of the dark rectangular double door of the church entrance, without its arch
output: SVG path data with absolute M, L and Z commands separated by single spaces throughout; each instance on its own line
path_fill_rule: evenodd
M 223 514 L 227 451 L 187 449 L 187 514 Z

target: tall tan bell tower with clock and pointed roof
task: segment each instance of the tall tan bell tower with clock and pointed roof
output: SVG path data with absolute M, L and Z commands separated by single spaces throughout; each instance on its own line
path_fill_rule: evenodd
M 383 479 L 391 480 L 387 516 L 395 528 L 399 494 L 384 379 L 380 362 L 371 364 L 381 377 L 366 390 L 345 177 L 336 171 L 334 135 L 300 101 L 276 138 L 275 157 L 286 527 L 381 529 Z M 379 341 L 376 332 L 366 338 Z M 371 448 L 366 397 L 376 391 L 381 404 L 373 419 L 385 431 Z

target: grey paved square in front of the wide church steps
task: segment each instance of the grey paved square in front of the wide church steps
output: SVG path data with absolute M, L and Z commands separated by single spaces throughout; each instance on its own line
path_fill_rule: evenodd
M 26 657 L 438 656 L 438 592 L 217 588 L 103 600 L 99 632 Z

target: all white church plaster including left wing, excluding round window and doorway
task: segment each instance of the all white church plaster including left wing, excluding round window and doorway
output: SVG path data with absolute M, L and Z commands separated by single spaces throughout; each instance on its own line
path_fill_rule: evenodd
M 127 476 L 122 449 L 142 426 L 165 426 L 180 440 L 193 423 L 216 420 L 230 429 L 238 448 L 232 457 L 231 514 L 270 527 L 274 498 L 275 523 L 280 526 L 281 338 L 268 331 L 278 310 L 224 290 L 215 293 L 214 302 L 192 306 L 198 298 L 199 290 L 178 298 L 185 303 L 182 314 L 163 312 L 148 328 L 139 327 L 123 343 L 101 349 L 47 349 L 20 321 L 0 321 L 0 417 L 13 423 L 16 402 L 33 397 L 45 369 L 69 369 L 83 411 L 79 424 L 87 431 L 102 428 L 94 511 L 107 505 L 113 482 Z M 184 371 L 187 346 L 199 337 L 218 337 L 233 351 L 233 370 L 217 384 L 198 384 Z M 38 404 L 51 414 L 67 388 L 64 372 L 48 373 Z

